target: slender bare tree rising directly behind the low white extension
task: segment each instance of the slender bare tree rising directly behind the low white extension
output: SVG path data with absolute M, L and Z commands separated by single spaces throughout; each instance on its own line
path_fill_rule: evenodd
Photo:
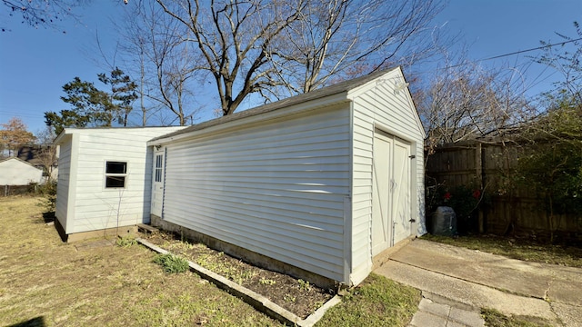
M 120 51 L 139 77 L 142 124 L 157 114 L 165 124 L 185 125 L 197 113 L 196 55 L 185 42 L 188 30 L 169 19 L 156 3 L 137 2 L 118 29 L 124 31 Z M 170 119 L 167 119 L 167 113 Z

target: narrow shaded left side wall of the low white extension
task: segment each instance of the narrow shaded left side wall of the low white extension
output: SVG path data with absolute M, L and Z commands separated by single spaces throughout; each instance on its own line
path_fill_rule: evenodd
M 65 142 L 60 144 L 58 156 L 58 182 L 56 183 L 56 207 L 55 216 L 61 226 L 66 229 L 68 214 L 69 188 L 71 175 L 71 148 L 72 137 L 68 136 Z

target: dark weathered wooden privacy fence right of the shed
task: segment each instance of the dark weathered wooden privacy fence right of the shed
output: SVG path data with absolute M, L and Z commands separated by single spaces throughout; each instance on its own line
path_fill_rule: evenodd
M 457 217 L 459 223 L 465 221 L 468 231 L 538 237 L 555 233 L 582 240 L 582 213 L 555 215 L 550 221 L 544 200 L 535 190 L 511 183 L 511 168 L 522 151 L 513 144 L 479 142 L 437 148 L 426 156 L 426 213 L 436 205 L 456 203 L 471 212 L 467 217 Z M 458 199 L 459 193 L 453 190 L 459 189 L 467 196 Z

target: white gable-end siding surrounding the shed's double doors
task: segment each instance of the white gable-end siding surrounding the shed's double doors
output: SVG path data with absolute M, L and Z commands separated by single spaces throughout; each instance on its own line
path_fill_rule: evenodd
M 354 111 L 354 180 L 352 208 L 352 282 L 366 278 L 372 268 L 372 161 L 375 127 L 412 144 L 411 154 L 411 218 L 416 222 L 424 216 L 424 167 L 422 125 L 406 88 L 395 91 L 404 83 L 400 70 L 394 70 L 353 98 Z M 412 233 L 416 233 L 413 228 Z

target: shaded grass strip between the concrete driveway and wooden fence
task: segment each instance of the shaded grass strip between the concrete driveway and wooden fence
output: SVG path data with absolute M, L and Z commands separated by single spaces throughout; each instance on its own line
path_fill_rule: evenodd
M 446 243 L 507 256 L 517 260 L 533 263 L 553 263 L 568 267 L 582 267 L 582 248 L 535 243 L 526 239 L 507 238 L 492 235 L 470 235 L 459 237 L 436 236 L 426 234 L 422 237 L 428 241 Z

